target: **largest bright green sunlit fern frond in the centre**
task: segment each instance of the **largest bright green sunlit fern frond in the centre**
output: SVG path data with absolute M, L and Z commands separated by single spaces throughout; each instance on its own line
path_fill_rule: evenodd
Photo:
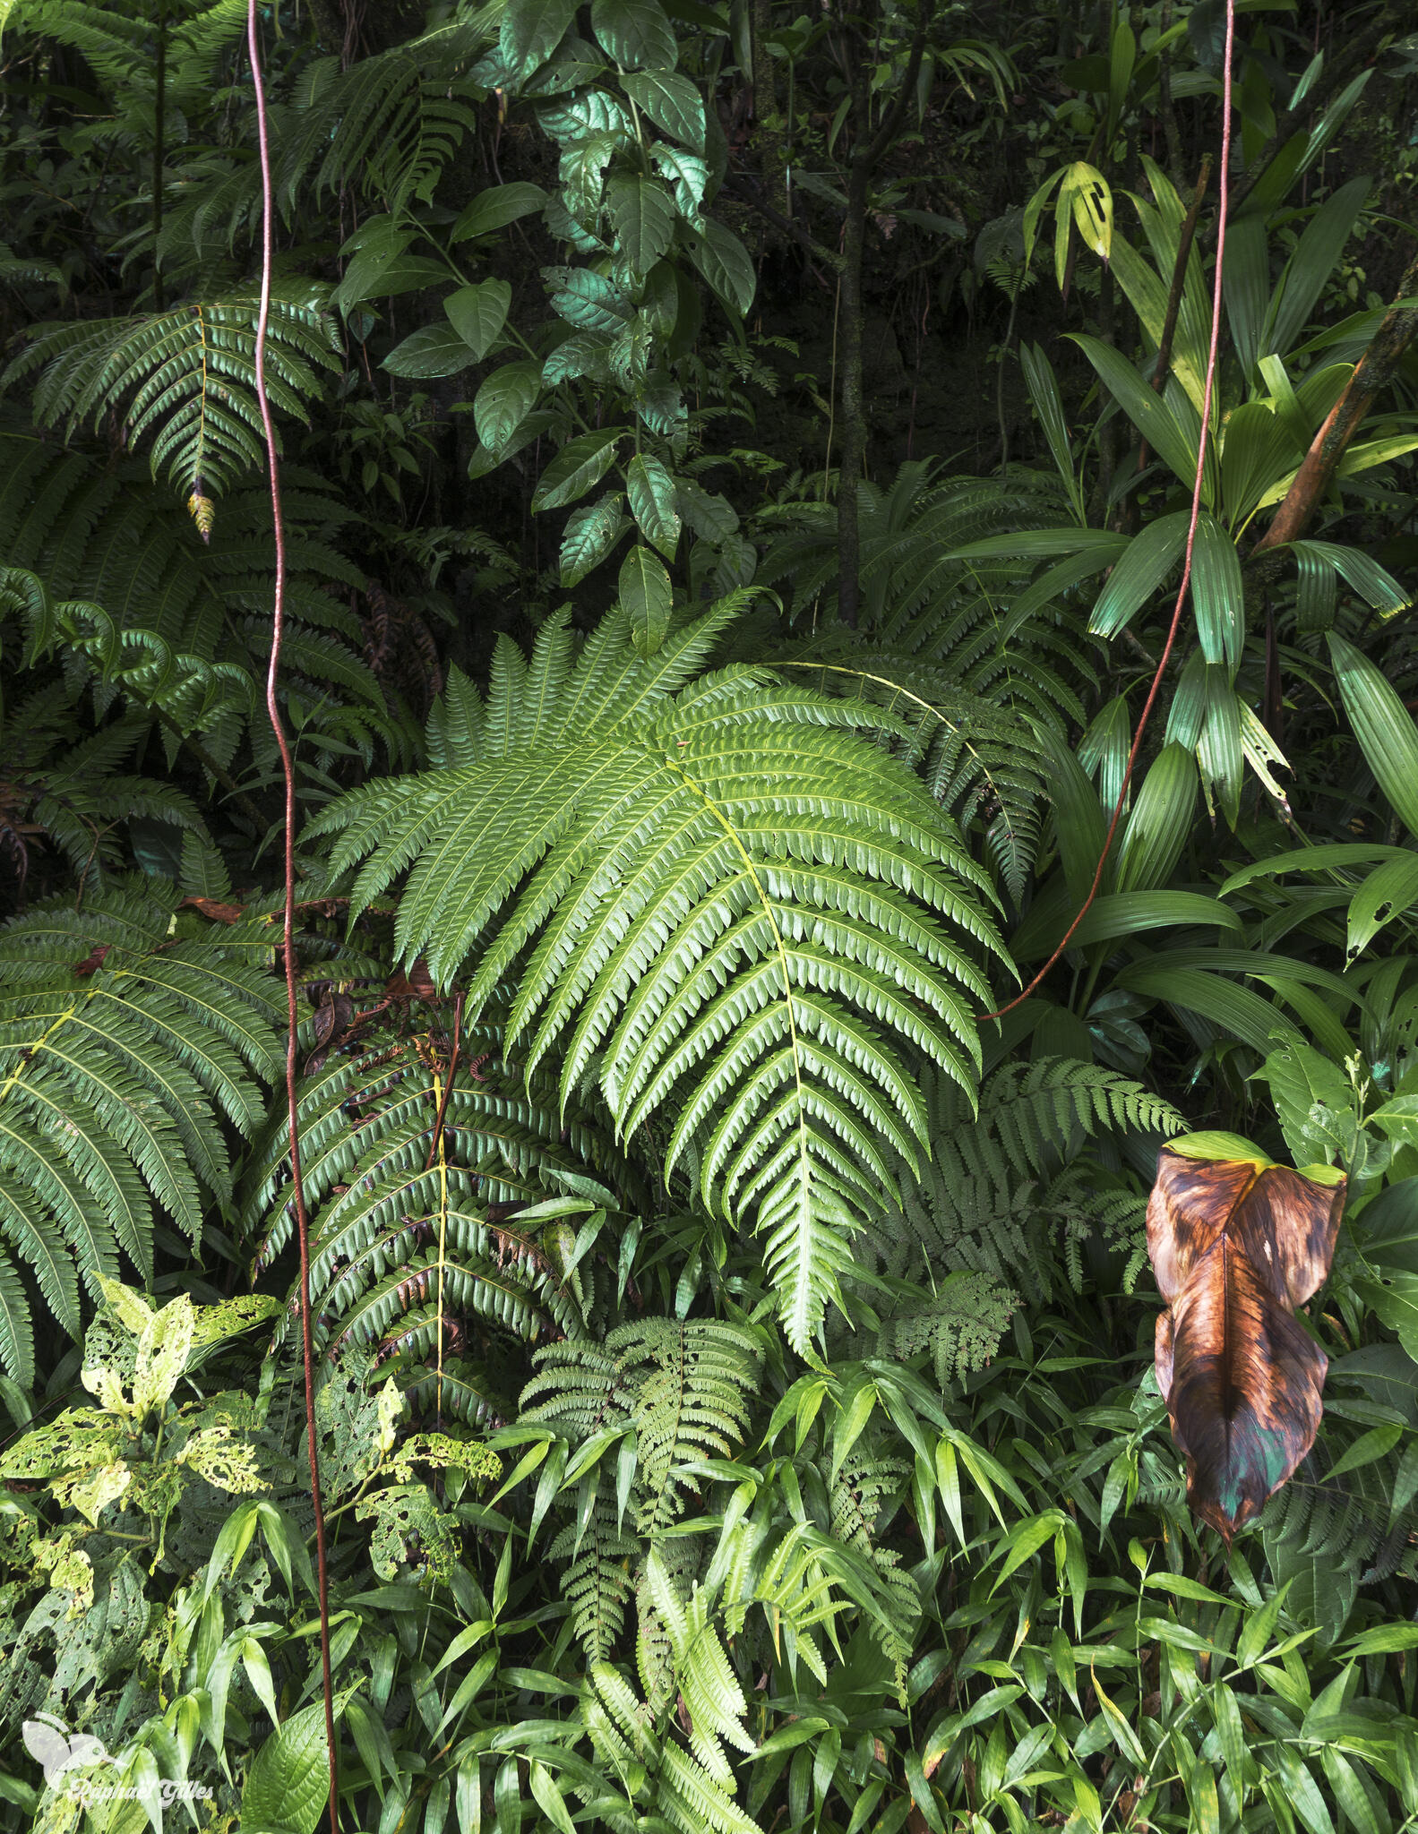
M 838 1295 L 892 1152 L 926 1144 L 915 1066 L 970 1091 L 981 956 L 1003 948 L 958 825 L 873 734 L 879 706 L 703 673 L 726 603 L 640 660 L 613 611 L 578 649 L 503 640 L 429 721 L 429 772 L 341 798 L 310 833 L 365 866 L 352 913 L 407 871 L 396 948 L 470 1011 L 523 963 L 508 1042 L 594 1078 L 624 1139 L 767 1238 L 789 1335 Z M 866 732 L 866 735 L 864 735 Z

